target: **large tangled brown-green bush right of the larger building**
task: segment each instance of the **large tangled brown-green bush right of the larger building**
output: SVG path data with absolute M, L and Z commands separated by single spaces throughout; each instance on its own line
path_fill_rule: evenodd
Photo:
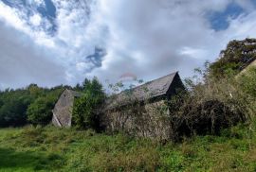
M 174 96 L 170 102 L 170 109 L 174 110 L 171 111 L 171 121 L 176 138 L 218 134 L 221 129 L 244 122 L 256 112 L 255 106 L 251 105 L 255 87 L 250 87 L 255 84 L 255 74 L 241 80 L 234 76 L 216 79 L 207 71 L 199 70 L 203 77 L 187 80 L 189 94 Z

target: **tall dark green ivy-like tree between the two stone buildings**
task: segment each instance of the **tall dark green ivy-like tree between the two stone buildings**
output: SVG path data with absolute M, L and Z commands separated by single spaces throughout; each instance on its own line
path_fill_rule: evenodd
M 75 99 L 73 107 L 73 124 L 80 129 L 99 129 L 99 115 L 105 95 L 99 80 L 85 78 L 83 95 Z

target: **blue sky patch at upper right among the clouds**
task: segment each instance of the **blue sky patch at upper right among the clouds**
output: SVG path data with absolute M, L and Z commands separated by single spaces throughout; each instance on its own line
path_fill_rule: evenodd
M 230 3 L 224 11 L 210 11 L 207 14 L 207 18 L 210 21 L 211 28 L 220 31 L 229 27 L 229 17 L 234 19 L 243 13 L 246 13 L 244 9 L 236 3 Z

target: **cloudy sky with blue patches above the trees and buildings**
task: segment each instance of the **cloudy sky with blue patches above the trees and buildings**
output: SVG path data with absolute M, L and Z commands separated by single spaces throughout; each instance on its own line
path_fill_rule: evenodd
M 256 38 L 255 0 L 0 0 L 0 89 L 181 77 Z

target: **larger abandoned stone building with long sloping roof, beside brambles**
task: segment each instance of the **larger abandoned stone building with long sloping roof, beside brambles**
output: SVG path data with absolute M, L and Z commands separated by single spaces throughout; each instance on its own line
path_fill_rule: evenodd
M 159 140 L 173 137 L 166 106 L 168 99 L 185 87 L 177 72 L 160 77 L 109 98 L 102 123 L 110 132 L 124 131 Z

